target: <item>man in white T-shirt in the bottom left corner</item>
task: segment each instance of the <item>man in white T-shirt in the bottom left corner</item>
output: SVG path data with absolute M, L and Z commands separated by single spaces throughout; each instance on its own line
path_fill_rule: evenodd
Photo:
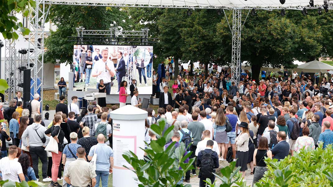
M 12 145 L 8 149 L 8 157 L 4 157 L 0 160 L 0 172 L 2 173 L 2 180 L 9 180 L 12 182 L 25 181 L 25 177 L 22 171 L 22 166 L 19 162 L 14 160 L 17 155 L 16 145 Z

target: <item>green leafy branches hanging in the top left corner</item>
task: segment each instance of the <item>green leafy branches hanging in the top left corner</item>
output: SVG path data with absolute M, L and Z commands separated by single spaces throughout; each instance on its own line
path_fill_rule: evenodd
M 5 0 L 0 3 L 0 32 L 5 39 L 18 39 L 16 31 L 22 35 L 28 35 L 30 30 L 23 27 L 22 22 L 18 22 L 15 13 L 22 13 L 24 17 L 29 16 L 31 9 L 36 6 L 33 0 Z M 11 14 L 13 13 L 13 14 Z

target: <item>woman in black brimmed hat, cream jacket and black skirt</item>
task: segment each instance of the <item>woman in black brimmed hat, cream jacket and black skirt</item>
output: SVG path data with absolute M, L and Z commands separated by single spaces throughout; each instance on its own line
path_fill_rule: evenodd
M 239 172 L 242 173 L 243 180 L 245 179 L 245 171 L 247 170 L 247 160 L 248 160 L 248 154 L 249 154 L 249 139 L 250 139 L 250 133 L 248 128 L 248 123 L 241 122 L 239 124 L 239 128 L 241 130 L 241 133 L 239 136 L 236 137 L 236 167 L 240 167 Z

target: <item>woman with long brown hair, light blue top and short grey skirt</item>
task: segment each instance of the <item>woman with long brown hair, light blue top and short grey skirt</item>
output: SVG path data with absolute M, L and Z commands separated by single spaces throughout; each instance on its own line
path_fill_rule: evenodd
M 213 124 L 215 134 L 215 141 L 217 142 L 218 149 L 220 150 L 221 156 L 219 156 L 219 161 L 224 161 L 223 156 L 225 152 L 224 143 L 228 141 L 227 132 L 225 131 L 226 117 L 222 108 L 218 108 L 215 116 L 215 121 Z

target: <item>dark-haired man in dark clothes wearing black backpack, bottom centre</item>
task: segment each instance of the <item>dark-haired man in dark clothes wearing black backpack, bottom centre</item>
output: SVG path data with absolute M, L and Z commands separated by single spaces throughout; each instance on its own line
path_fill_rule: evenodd
M 219 167 L 218 156 L 215 151 L 212 150 L 214 145 L 213 140 L 208 140 L 206 144 L 206 149 L 198 153 L 196 166 L 199 171 L 199 187 L 205 187 L 206 183 L 203 180 L 209 178 L 213 183 L 215 180 L 215 168 Z

